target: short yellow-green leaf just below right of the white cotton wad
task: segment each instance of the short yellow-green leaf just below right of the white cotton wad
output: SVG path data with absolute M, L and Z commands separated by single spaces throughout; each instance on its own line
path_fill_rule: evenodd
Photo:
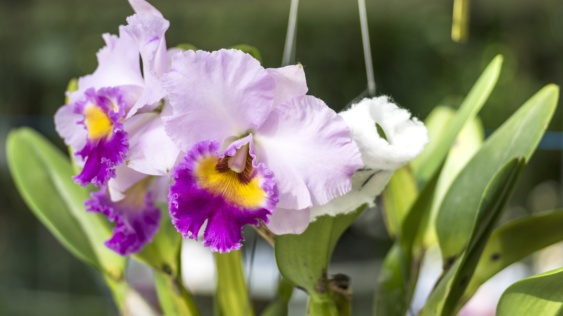
M 395 170 L 383 191 L 387 232 L 395 236 L 418 196 L 417 184 L 408 165 Z

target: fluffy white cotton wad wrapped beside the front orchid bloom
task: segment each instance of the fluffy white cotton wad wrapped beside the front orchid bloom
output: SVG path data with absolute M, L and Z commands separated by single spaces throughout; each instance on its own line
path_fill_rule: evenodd
M 365 98 L 338 115 L 350 127 L 350 136 L 360 148 L 364 168 L 352 175 L 350 192 L 325 205 L 311 207 L 311 221 L 324 214 L 350 213 L 364 203 L 373 206 L 393 171 L 420 155 L 430 142 L 424 124 L 386 96 Z M 377 133 L 376 123 L 385 132 L 387 141 Z

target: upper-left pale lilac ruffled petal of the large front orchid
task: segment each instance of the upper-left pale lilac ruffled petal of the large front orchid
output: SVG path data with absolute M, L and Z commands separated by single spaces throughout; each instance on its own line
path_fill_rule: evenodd
M 260 127 L 275 95 L 274 79 L 238 49 L 176 53 L 161 81 L 174 109 L 164 128 L 182 151 L 205 139 L 222 143 Z

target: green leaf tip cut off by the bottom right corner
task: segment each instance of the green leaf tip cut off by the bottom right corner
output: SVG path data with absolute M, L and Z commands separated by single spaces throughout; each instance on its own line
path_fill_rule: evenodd
M 509 286 L 497 305 L 497 316 L 563 314 L 563 268 L 522 279 Z

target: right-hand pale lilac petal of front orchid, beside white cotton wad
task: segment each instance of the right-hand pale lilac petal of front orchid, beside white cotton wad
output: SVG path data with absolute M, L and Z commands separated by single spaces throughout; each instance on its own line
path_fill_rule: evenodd
M 363 166 L 344 120 L 313 96 L 272 110 L 254 142 L 258 160 L 276 173 L 284 209 L 323 205 L 350 191 L 351 175 Z

